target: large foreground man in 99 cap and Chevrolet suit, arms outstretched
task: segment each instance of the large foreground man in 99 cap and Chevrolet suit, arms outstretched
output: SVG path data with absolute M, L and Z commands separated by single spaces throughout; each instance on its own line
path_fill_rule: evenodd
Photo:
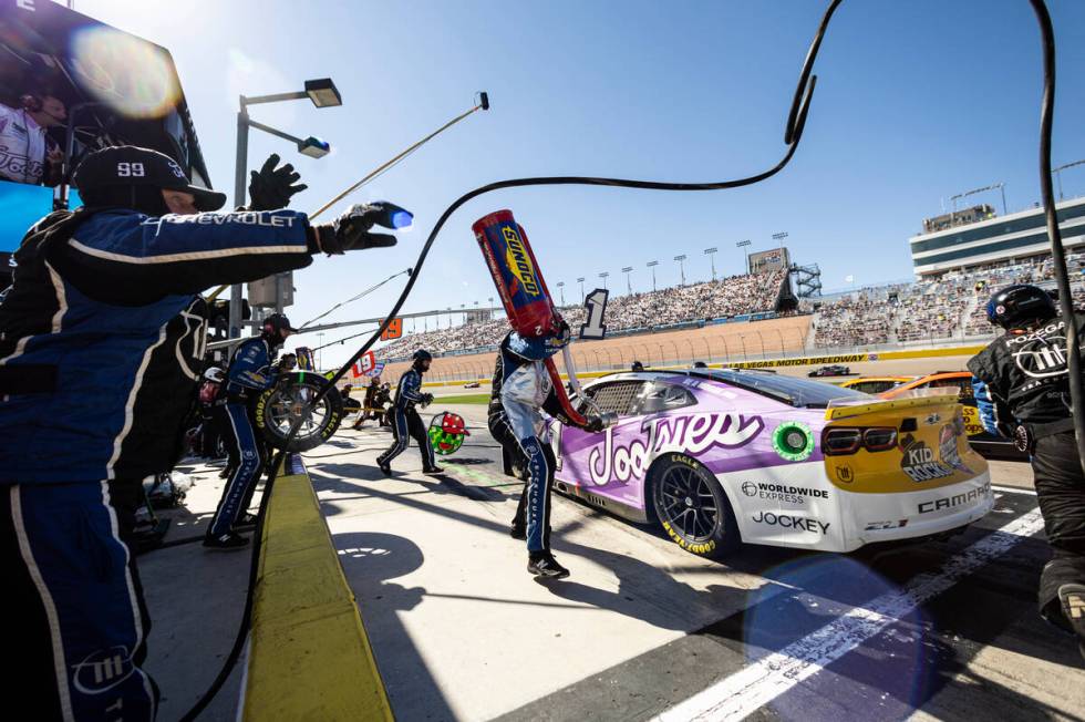
M 297 179 L 276 173 L 257 185 Z M 199 291 L 395 239 L 369 233 L 381 208 L 321 226 L 267 207 L 199 213 L 226 197 L 133 146 L 90 154 L 74 185 L 86 205 L 27 233 L 0 301 L 0 565 L 19 660 L 4 684 L 39 719 L 149 720 L 149 621 L 127 538 L 142 479 L 182 450 Z

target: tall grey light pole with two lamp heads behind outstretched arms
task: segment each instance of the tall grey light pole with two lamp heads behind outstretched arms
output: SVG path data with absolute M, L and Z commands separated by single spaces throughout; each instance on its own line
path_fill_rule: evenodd
M 282 133 L 273 127 L 257 123 L 249 118 L 249 105 L 261 103 L 278 103 L 280 101 L 296 101 L 308 97 L 317 107 L 334 107 L 343 104 L 343 96 L 330 78 L 319 80 L 307 80 L 306 89 L 293 93 L 277 93 L 275 95 L 256 95 L 239 99 L 237 111 L 237 159 L 234 167 L 234 205 L 240 208 L 245 206 L 245 175 L 248 166 L 249 155 L 249 127 L 270 133 L 281 138 L 286 138 L 298 146 L 298 152 L 313 158 L 328 155 L 330 145 L 320 138 L 309 136 L 304 140 L 294 137 L 288 133 Z M 282 310 L 282 293 L 280 285 L 282 276 L 276 274 L 275 277 L 275 303 L 276 311 Z M 229 338 L 236 339 L 241 336 L 241 285 L 234 283 L 230 287 L 230 330 Z

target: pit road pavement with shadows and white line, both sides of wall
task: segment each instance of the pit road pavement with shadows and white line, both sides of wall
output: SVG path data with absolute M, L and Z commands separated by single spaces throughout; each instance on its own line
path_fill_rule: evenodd
M 556 494 L 572 576 L 540 584 L 507 535 L 521 483 L 500 473 L 485 406 L 438 399 L 423 416 L 443 410 L 472 431 L 438 457 L 443 476 L 421 474 L 412 443 L 385 478 L 391 434 L 373 422 L 304 455 L 399 720 L 1085 720 L 1074 640 L 1035 609 L 1050 553 L 1026 464 L 991 463 L 995 508 L 962 534 L 851 555 L 744 546 L 711 561 Z M 188 470 L 178 535 L 206 524 L 217 468 Z M 195 699 L 232 629 L 215 595 L 174 584 L 167 599 L 156 581 L 196 564 L 236 600 L 246 561 L 198 545 L 141 557 L 159 719 Z M 229 639 L 183 632 L 182 605 L 189 622 L 223 612 Z M 235 680 L 202 719 L 232 719 L 236 694 Z

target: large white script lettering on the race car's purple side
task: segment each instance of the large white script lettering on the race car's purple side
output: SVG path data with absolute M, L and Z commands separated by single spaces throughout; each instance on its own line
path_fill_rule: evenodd
M 626 484 L 630 478 L 643 478 L 662 448 L 690 456 L 717 446 L 738 448 L 752 442 L 764 427 L 761 416 L 737 413 L 660 416 L 647 420 L 639 434 L 617 443 L 611 426 L 601 447 L 596 445 L 588 456 L 588 475 L 596 486 Z

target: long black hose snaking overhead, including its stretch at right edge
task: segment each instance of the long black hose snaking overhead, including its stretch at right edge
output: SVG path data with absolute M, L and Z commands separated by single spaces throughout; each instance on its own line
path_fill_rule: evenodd
M 1081 359 L 1078 358 L 1077 351 L 1077 328 L 1074 322 L 1073 298 L 1071 296 L 1070 279 L 1066 271 L 1066 258 L 1063 252 L 1062 236 L 1058 231 L 1058 219 L 1055 214 L 1055 197 L 1051 183 L 1051 128 L 1055 106 L 1055 35 L 1051 24 L 1051 16 L 1047 12 L 1047 6 L 1044 3 L 1044 1 L 1029 1 L 1036 13 L 1036 20 L 1040 24 L 1040 34 L 1044 51 L 1044 93 L 1040 116 L 1040 186 L 1047 219 L 1047 235 L 1051 240 L 1051 252 L 1054 259 L 1055 278 L 1058 283 L 1060 308 L 1062 310 L 1063 318 L 1066 320 L 1066 358 L 1070 364 L 1070 392 L 1073 403 L 1072 413 L 1074 417 L 1074 430 L 1077 439 L 1078 454 L 1082 457 L 1082 467 L 1085 470 L 1085 402 L 1083 402 L 1083 399 L 1085 399 L 1085 390 L 1083 390 L 1082 385 Z M 499 180 L 497 183 L 492 183 L 489 185 L 475 188 L 474 190 L 462 195 L 455 200 L 455 203 L 448 206 L 443 214 L 441 214 L 441 217 L 434 225 L 433 230 L 430 231 L 430 236 L 426 238 L 426 241 L 422 246 L 422 250 L 418 254 L 418 260 L 414 265 L 414 271 L 411 274 L 406 286 L 404 286 L 403 291 L 400 293 L 400 298 L 388 312 L 380 328 L 373 332 L 369 340 L 362 344 L 354 355 L 352 355 L 350 360 L 347 361 L 347 363 L 344 363 L 342 368 L 339 369 L 339 371 L 317 393 L 317 395 L 313 396 L 312 401 L 310 402 L 310 409 L 316 406 L 316 404 L 319 403 L 330 390 L 335 388 L 335 383 L 343 378 L 347 370 L 350 369 L 354 362 L 362 357 L 362 354 L 369 351 L 376 340 L 380 339 L 385 329 L 388 329 L 389 323 L 391 323 L 392 319 L 394 319 L 400 312 L 403 303 L 406 302 L 407 297 L 411 295 L 411 290 L 414 288 L 414 283 L 418 278 L 423 264 L 425 264 L 426 257 L 430 255 L 430 249 L 433 247 L 433 241 L 436 240 L 437 234 L 441 233 L 441 229 L 444 227 L 445 221 L 448 220 L 448 217 L 468 200 L 494 190 L 500 190 L 504 188 L 523 188 L 527 186 L 588 185 L 612 186 L 618 188 L 641 188 L 644 190 L 721 190 L 724 188 L 737 188 L 741 186 L 760 183 L 761 180 L 765 180 L 766 178 L 769 178 L 782 171 L 795 155 L 799 141 L 803 138 L 803 130 L 806 126 L 806 117 L 809 113 L 810 101 L 814 96 L 814 87 L 817 84 L 817 75 L 813 74 L 814 61 L 817 59 L 817 52 L 822 47 L 822 39 L 825 37 L 825 32 L 828 29 L 829 20 L 833 18 L 833 13 L 836 11 L 837 7 L 839 7 L 840 2 L 843 2 L 843 0 L 833 0 L 829 3 L 828 9 L 822 17 L 822 23 L 818 25 L 817 33 L 814 35 L 814 40 L 810 43 L 810 49 L 806 54 L 806 60 L 803 63 L 803 72 L 799 74 L 798 85 L 795 89 L 795 95 L 792 100 L 792 107 L 787 114 L 787 123 L 784 128 L 784 143 L 787 145 L 787 149 L 779 163 L 756 175 L 735 180 L 721 180 L 717 183 L 660 183 L 655 180 L 631 180 L 623 178 L 544 176 L 537 178 Z M 298 420 L 294 421 L 290 430 L 290 435 L 287 437 L 286 445 L 289 445 L 290 442 L 293 441 L 294 436 L 297 436 L 303 417 L 304 414 L 300 415 Z M 234 649 L 230 650 L 230 654 L 226 659 L 223 670 L 219 672 L 218 678 L 211 684 L 210 689 L 207 690 L 207 692 L 200 698 L 199 702 L 197 702 L 197 704 L 183 718 L 183 720 L 194 720 L 196 715 L 198 715 L 199 712 L 207 706 L 207 703 L 226 682 L 226 679 L 229 677 L 234 664 L 237 662 L 237 659 L 245 647 L 245 640 L 248 636 L 249 622 L 251 620 L 252 592 L 259 568 L 260 537 L 264 528 L 265 512 L 268 499 L 271 498 L 271 488 L 275 482 L 275 476 L 278 473 L 279 465 L 285 461 L 286 452 L 279 452 L 279 454 L 276 456 L 271 475 L 268 478 L 264 489 L 264 496 L 260 501 L 260 518 L 257 522 L 256 532 L 254 534 L 252 565 L 249 571 L 249 590 L 245 601 L 245 613 L 241 617 L 241 626 L 238 629 L 237 639 L 234 642 Z

